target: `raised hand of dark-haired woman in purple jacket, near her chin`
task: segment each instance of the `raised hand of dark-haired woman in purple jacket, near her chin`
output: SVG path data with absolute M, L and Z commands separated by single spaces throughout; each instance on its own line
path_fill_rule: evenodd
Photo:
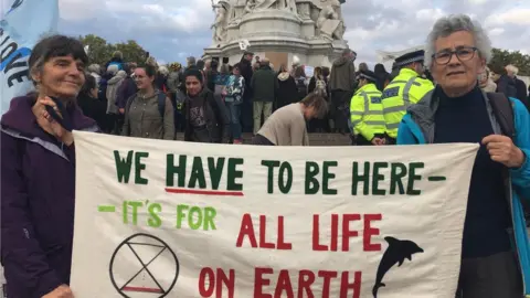
M 73 137 L 70 131 L 64 129 L 53 117 L 47 113 L 46 106 L 52 107 L 59 117 L 63 117 L 57 108 L 57 105 L 50 97 L 39 97 L 36 103 L 33 105 L 33 114 L 35 115 L 36 123 L 39 126 L 44 129 L 46 132 L 55 136 L 57 139 L 61 139 L 66 145 L 73 142 Z

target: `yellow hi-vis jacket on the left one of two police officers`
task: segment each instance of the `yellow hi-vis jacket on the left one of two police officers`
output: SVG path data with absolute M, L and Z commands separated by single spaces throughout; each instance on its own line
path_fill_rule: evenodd
M 371 141 L 377 134 L 384 134 L 385 123 L 383 117 L 383 105 L 381 105 L 382 93 L 375 84 L 367 84 L 360 87 L 350 103 L 350 117 L 353 134 L 361 135 Z

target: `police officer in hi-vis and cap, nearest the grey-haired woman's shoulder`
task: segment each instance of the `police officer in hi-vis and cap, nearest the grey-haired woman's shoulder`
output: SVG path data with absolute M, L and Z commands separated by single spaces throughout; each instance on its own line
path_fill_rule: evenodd
M 383 115 L 390 145 L 395 145 L 398 128 L 405 116 L 406 108 L 416 104 L 430 91 L 434 89 L 431 81 L 422 78 L 425 51 L 418 50 L 395 58 L 400 74 L 383 91 Z

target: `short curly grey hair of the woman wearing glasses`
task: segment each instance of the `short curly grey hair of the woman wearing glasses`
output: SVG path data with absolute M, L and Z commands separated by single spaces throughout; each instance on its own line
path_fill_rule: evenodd
M 439 38 L 446 38 L 458 31 L 467 31 L 475 39 L 475 46 L 478 49 L 480 57 L 488 63 L 491 60 L 491 40 L 479 22 L 471 20 L 466 14 L 451 14 L 441 18 L 434 23 L 433 30 L 428 33 L 427 44 L 425 46 L 425 65 L 431 68 L 433 65 L 433 54 L 435 54 L 435 43 Z

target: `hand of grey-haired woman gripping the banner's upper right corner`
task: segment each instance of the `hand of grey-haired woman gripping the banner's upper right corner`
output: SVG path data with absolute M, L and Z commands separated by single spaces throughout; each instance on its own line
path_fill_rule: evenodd
M 513 141 L 501 135 L 490 135 L 483 139 L 483 145 L 488 149 L 491 160 L 500 162 L 508 168 L 520 168 L 524 162 L 524 153 Z

